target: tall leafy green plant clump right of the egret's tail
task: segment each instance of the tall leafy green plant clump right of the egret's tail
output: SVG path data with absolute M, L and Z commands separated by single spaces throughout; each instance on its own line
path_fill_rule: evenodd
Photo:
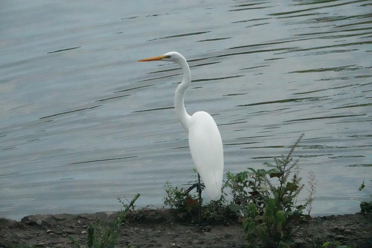
M 300 183 L 298 160 L 292 162 L 292 153 L 303 136 L 298 138 L 287 156 L 274 158 L 275 165 L 264 163 L 270 170 L 248 168 L 237 175 L 228 173 L 225 187 L 232 189 L 230 205 L 241 207 L 248 247 L 289 247 L 294 236 L 291 224 L 310 219 L 316 181 L 310 173 L 309 197 L 304 204 L 297 205 L 298 194 L 305 185 Z M 274 184 L 271 178 L 277 178 L 278 182 Z M 302 211 L 306 208 L 308 214 L 304 215 Z

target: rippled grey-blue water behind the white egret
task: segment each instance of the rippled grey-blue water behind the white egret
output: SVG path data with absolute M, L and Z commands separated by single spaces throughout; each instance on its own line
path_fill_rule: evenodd
M 225 172 L 288 153 L 312 213 L 355 213 L 372 179 L 372 1 L 2 1 L 0 216 L 161 206 L 194 180 L 186 109 L 219 126 Z M 306 197 L 306 190 L 303 191 Z

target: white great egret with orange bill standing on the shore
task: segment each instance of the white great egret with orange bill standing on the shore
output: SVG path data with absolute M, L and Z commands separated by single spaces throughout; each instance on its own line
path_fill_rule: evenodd
M 183 71 L 183 80 L 177 86 L 176 94 L 174 95 L 174 108 L 176 109 L 178 121 L 186 132 L 189 133 L 189 147 L 199 178 L 200 215 L 200 177 L 203 180 L 209 197 L 216 200 L 221 196 L 222 174 L 224 171 L 224 153 L 221 135 L 215 121 L 208 113 L 199 111 L 190 116 L 186 112 L 184 99 L 186 90 L 191 83 L 191 73 L 185 57 L 178 52 L 168 52 L 164 55 L 145 58 L 139 61 L 158 60 L 176 62 L 181 66 Z

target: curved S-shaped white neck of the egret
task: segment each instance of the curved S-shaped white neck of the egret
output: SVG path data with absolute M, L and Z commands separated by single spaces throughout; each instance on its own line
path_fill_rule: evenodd
M 176 94 L 174 95 L 174 109 L 176 109 L 177 120 L 181 123 L 182 127 L 188 132 L 189 122 L 191 116 L 189 116 L 185 109 L 185 93 L 191 83 L 191 73 L 189 65 L 185 58 L 180 59 L 177 63 L 181 66 L 183 71 L 183 80 L 177 86 Z

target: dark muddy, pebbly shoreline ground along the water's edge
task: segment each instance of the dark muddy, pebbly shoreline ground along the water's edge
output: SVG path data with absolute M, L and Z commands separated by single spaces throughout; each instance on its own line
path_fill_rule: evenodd
M 165 211 L 165 210 L 163 210 Z M 117 212 L 94 214 L 31 215 L 20 222 L 0 219 L 0 247 L 74 247 L 59 229 L 86 245 L 87 226 L 100 219 L 104 226 L 115 220 Z M 241 223 L 205 226 L 201 229 L 185 223 L 164 223 L 153 219 L 123 223 L 116 247 L 246 247 Z M 307 224 L 295 226 L 297 236 L 293 247 L 321 247 L 326 241 L 340 240 L 341 244 L 357 248 L 372 248 L 372 214 L 331 215 L 310 220 L 308 235 L 303 238 Z M 314 246 L 315 245 L 315 246 Z

